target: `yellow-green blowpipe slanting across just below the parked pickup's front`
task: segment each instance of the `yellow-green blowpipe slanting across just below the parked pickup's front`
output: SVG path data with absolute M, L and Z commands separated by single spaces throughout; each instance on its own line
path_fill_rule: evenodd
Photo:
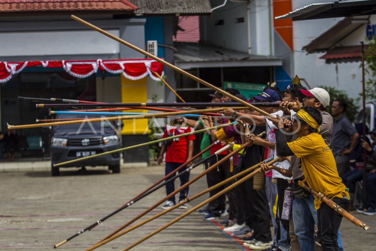
M 115 152 L 121 152 L 121 151 L 129 150 L 129 149 L 137 148 L 137 147 L 140 147 L 140 146 L 152 145 L 152 144 L 155 144 L 155 143 L 158 143 L 158 142 L 162 142 L 162 141 L 165 141 L 165 140 L 170 140 L 170 139 L 174 139 L 174 138 L 180 138 L 180 137 L 183 137 L 183 136 L 197 134 L 197 133 L 200 133 L 200 132 L 206 132 L 206 131 L 212 130 L 214 128 L 222 128 L 222 127 L 230 126 L 230 125 L 233 125 L 234 123 L 236 123 L 236 122 L 227 123 L 227 124 L 218 125 L 218 126 L 213 126 L 211 128 L 205 128 L 205 129 L 195 130 L 194 132 L 182 133 L 182 134 L 174 135 L 174 136 L 167 137 L 167 138 L 161 138 L 159 140 L 153 140 L 153 141 L 141 143 L 141 144 L 138 144 L 138 145 L 127 146 L 127 147 L 124 147 L 124 148 L 115 149 L 115 150 L 108 151 L 108 152 L 102 152 L 100 154 L 95 154 L 95 155 L 91 155 L 91 156 L 88 156 L 88 157 L 78 158 L 78 159 L 75 159 L 75 160 L 68 160 L 68 161 L 65 161 L 65 162 L 54 164 L 54 167 L 64 166 L 65 164 L 70 164 L 70 163 L 74 163 L 74 162 L 78 162 L 78 161 L 82 161 L 82 160 L 88 160 L 90 158 L 95 158 L 95 157 L 103 156 L 103 155 L 106 155 L 106 154 L 113 154 Z

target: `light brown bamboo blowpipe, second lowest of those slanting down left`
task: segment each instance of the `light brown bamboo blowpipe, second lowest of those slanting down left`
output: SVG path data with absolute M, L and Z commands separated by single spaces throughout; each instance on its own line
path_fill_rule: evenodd
M 261 161 L 260 163 L 255 164 L 255 165 L 253 165 L 253 166 L 247 168 L 246 170 L 243 170 L 243 171 L 241 171 L 240 173 L 235 174 L 235 175 L 231 176 L 230 178 L 227 178 L 226 180 L 221 181 L 220 183 L 217 183 L 217 184 L 215 184 L 214 186 L 211 186 L 211 187 L 209 187 L 208 189 L 206 189 L 206 190 L 204 190 L 204 191 L 202 191 L 202 192 L 200 192 L 200 193 L 197 193 L 196 195 L 191 196 L 190 198 L 186 199 L 186 201 L 179 202 L 178 204 L 174 205 L 173 207 L 170 207 L 170 208 L 168 208 L 168 209 L 166 209 L 166 210 L 163 210 L 163 211 L 161 211 L 160 213 L 155 214 L 155 215 L 153 215 L 152 217 L 150 217 L 150 218 L 148 218 L 148 219 L 146 219 L 146 220 L 144 220 L 144 221 L 142 221 L 142 222 L 140 222 L 140 223 L 138 223 L 138 224 L 136 224 L 136 225 L 133 225 L 132 227 L 127 228 L 126 230 L 121 231 L 121 232 L 118 233 L 118 234 L 115 234 L 114 236 L 112 236 L 112 237 L 110 237 L 110 238 L 104 240 L 103 242 L 100 242 L 100 243 L 98 243 L 98 244 L 96 244 L 96 245 L 94 245 L 94 246 L 92 246 L 92 247 L 86 249 L 85 251 L 91 251 L 91 250 L 94 250 L 94 249 L 96 249 L 96 248 L 99 248 L 100 246 L 102 246 L 102 245 L 104 245 L 104 244 L 110 242 L 111 240 L 114 240 L 114 239 L 116 239 L 116 238 L 118 238 L 118 237 L 120 237 L 120 236 L 122 236 L 122 235 L 124 235 L 124 234 L 126 234 L 126 233 L 129 233 L 130 231 L 135 230 L 136 228 L 141 227 L 142 225 L 145 225 L 146 223 L 148 223 L 148 222 L 150 222 L 150 221 L 153 221 L 153 220 L 155 220 L 156 218 L 159 218 L 160 216 L 162 216 L 162 215 L 164 215 L 164 214 L 166 214 L 166 213 L 168 213 L 168 212 L 170 212 L 170 211 L 172 211 L 172 210 L 174 210 L 174 209 L 180 207 L 181 205 L 186 204 L 186 203 L 188 203 L 188 202 L 190 202 L 190 201 L 193 201 L 194 199 L 199 198 L 200 196 L 204 195 L 205 193 L 211 192 L 212 190 L 217 189 L 218 187 L 221 187 L 221 186 L 223 186 L 224 184 L 227 184 L 227 183 L 229 183 L 230 181 L 232 181 L 232 180 L 234 180 L 234 179 L 237 179 L 237 178 L 239 178 L 240 176 L 243 176 L 243 175 L 249 173 L 249 172 L 252 171 L 253 169 L 255 169 L 255 168 L 257 168 L 258 166 L 260 166 L 261 164 L 267 163 L 268 165 L 272 165 L 272 164 L 276 163 L 278 160 L 279 160 L 279 158 L 276 158 L 276 159 L 273 160 L 273 157 L 270 157 L 270 158 L 268 158 L 267 160 Z

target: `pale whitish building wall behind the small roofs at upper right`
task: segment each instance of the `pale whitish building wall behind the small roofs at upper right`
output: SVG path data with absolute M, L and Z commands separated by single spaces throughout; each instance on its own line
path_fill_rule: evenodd
M 322 0 L 294 0 L 293 10 L 301 8 L 309 3 L 322 3 Z M 324 59 L 320 59 L 324 53 L 308 54 L 302 51 L 302 47 L 311 43 L 343 18 L 326 18 L 317 20 L 294 21 L 294 74 L 300 78 L 305 78 L 312 88 L 318 85 L 326 85 L 345 90 L 352 97 L 358 97 L 361 92 L 361 69 L 360 62 L 339 63 L 338 70 L 336 64 L 326 64 Z M 364 41 L 365 28 L 360 28 L 349 38 L 344 40 L 343 45 L 359 45 Z M 347 41 L 347 42 L 346 42 Z M 351 42 L 351 43 L 350 43 Z

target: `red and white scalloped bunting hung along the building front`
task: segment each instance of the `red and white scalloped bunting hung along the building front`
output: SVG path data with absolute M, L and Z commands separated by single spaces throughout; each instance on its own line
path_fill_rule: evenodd
M 117 60 L 87 60 L 87 61 L 24 61 L 4 62 L 0 61 L 0 83 L 9 81 L 15 74 L 20 73 L 25 67 L 64 68 L 70 75 L 76 78 L 86 78 L 98 70 L 109 73 L 122 73 L 127 79 L 138 80 L 149 75 L 153 80 L 160 81 L 148 67 L 164 75 L 163 64 L 154 59 L 117 59 Z M 147 67 L 148 66 L 148 67 Z

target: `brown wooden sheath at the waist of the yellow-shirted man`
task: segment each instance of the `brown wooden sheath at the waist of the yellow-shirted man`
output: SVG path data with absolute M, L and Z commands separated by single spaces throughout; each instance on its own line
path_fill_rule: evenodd
M 315 190 L 312 190 L 310 187 L 308 187 L 306 184 L 304 184 L 302 181 L 298 181 L 299 186 L 303 187 L 304 189 L 308 190 L 310 193 L 312 193 L 317 199 L 323 201 L 326 205 L 329 207 L 333 208 L 334 211 L 337 213 L 341 214 L 344 218 L 348 219 L 350 222 L 353 224 L 357 225 L 358 227 L 363 228 L 365 231 L 370 229 L 367 225 L 365 225 L 363 222 L 359 221 L 356 219 L 352 214 L 344 210 L 342 207 L 337 205 L 334 201 L 331 199 L 327 198 L 325 195 L 322 193 L 318 193 Z

